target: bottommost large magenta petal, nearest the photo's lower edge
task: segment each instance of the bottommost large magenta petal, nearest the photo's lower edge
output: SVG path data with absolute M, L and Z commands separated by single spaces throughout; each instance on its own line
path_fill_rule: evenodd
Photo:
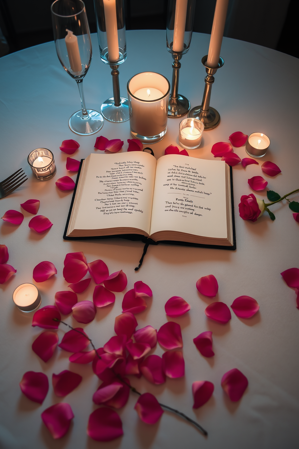
M 87 435 L 93 440 L 111 441 L 123 434 L 121 418 L 114 410 L 100 407 L 89 416 Z

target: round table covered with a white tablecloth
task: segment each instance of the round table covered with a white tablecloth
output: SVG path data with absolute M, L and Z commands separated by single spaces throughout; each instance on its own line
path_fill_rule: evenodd
M 127 59 L 119 67 L 121 96 L 126 97 L 126 84 L 131 76 L 154 71 L 171 80 L 172 57 L 166 48 L 162 30 L 127 31 Z M 179 93 L 187 97 L 191 108 L 201 104 L 205 68 L 201 59 L 208 53 L 209 35 L 193 33 L 191 46 L 182 57 Z M 112 77 L 109 66 L 100 60 L 97 35 L 91 35 L 93 55 L 84 78 L 84 93 L 88 109 L 100 111 L 106 98 L 112 97 Z M 271 207 L 276 220 L 267 212 L 256 222 L 239 216 L 238 203 L 242 195 L 255 194 L 267 200 L 267 190 L 281 196 L 299 188 L 298 151 L 298 73 L 299 60 L 270 48 L 240 40 L 224 38 L 221 48 L 224 66 L 212 86 L 211 106 L 217 109 L 221 122 L 217 128 L 205 131 L 200 147 L 188 150 L 189 156 L 214 159 L 212 145 L 229 142 L 236 131 L 250 135 L 262 132 L 271 141 L 266 155 L 258 164 L 232 168 L 234 184 L 234 215 L 236 250 L 183 247 L 166 244 L 147 250 L 143 265 L 138 265 L 143 252 L 142 242 L 124 239 L 65 241 L 63 233 L 72 199 L 72 191 L 56 187 L 57 179 L 77 173 L 66 170 L 68 154 L 61 142 L 74 139 L 80 145 L 70 157 L 80 160 L 91 153 L 95 139 L 121 139 L 126 152 L 130 122 L 104 121 L 94 135 L 79 136 L 69 129 L 69 117 L 80 108 L 78 88 L 74 79 L 61 66 L 54 42 L 9 54 L 0 59 L 0 180 L 23 168 L 28 180 L 9 196 L 0 200 L 1 217 L 8 210 L 20 211 L 24 220 L 13 225 L 1 220 L 0 244 L 9 251 L 8 264 L 16 273 L 0 285 L 0 447 L 3 449 L 297 449 L 299 447 L 299 310 L 298 290 L 287 286 L 280 273 L 299 267 L 299 223 L 294 220 L 287 200 Z M 178 146 L 181 119 L 168 119 L 163 140 L 150 145 L 156 158 L 169 145 Z M 27 163 L 28 154 L 36 148 L 52 151 L 57 167 L 56 176 L 41 182 Z M 182 148 L 180 148 L 182 149 Z M 245 145 L 234 148 L 243 159 L 248 157 Z M 102 152 L 102 154 L 104 154 Z M 261 164 L 271 161 L 281 169 L 277 176 L 261 171 Z M 254 191 L 247 180 L 263 176 L 267 188 Z M 38 215 L 46 216 L 52 227 L 36 233 L 28 224 L 32 214 L 20 207 L 28 199 L 38 199 Z M 299 201 L 299 194 L 290 196 Z M 116 293 L 115 303 L 97 308 L 95 319 L 78 323 L 72 314 L 62 315 L 70 326 L 81 327 L 96 348 L 104 346 L 113 335 L 115 317 L 122 312 L 124 293 L 134 283 L 143 281 L 152 289 L 147 308 L 136 314 L 138 327 L 153 326 L 159 330 L 167 321 L 181 326 L 185 375 L 167 378 L 156 385 L 147 379 L 130 375 L 130 383 L 139 392 L 150 392 L 159 402 L 178 409 L 199 423 L 207 432 L 165 409 L 155 424 L 144 423 L 134 405 L 138 395 L 130 393 L 125 406 L 116 412 L 121 418 L 123 436 L 99 442 L 87 435 L 90 414 L 100 406 L 92 396 L 100 386 L 91 363 L 69 361 L 70 352 L 56 348 L 44 362 L 32 350 L 32 343 L 43 332 L 32 327 L 34 313 L 23 313 L 13 303 L 13 291 L 22 283 L 35 284 L 42 301 L 40 307 L 55 305 L 57 291 L 67 291 L 63 277 L 67 253 L 82 251 L 87 262 L 103 260 L 109 273 L 123 270 L 128 285 Z M 33 280 L 33 269 L 42 261 L 55 265 L 57 274 L 44 282 Z M 214 275 L 219 290 L 214 298 L 196 289 L 200 277 Z M 88 276 L 88 275 L 87 275 Z M 91 300 L 95 282 L 78 294 L 78 301 Z M 247 295 L 256 299 L 260 309 L 251 318 L 243 319 L 230 308 L 234 299 Z M 190 304 L 190 311 L 176 318 L 165 313 L 166 301 L 179 296 Z M 231 310 L 227 324 L 212 321 L 205 308 L 222 302 Z M 298 303 L 297 303 L 298 304 Z M 299 307 L 299 306 L 298 306 Z M 59 342 L 69 329 L 59 325 Z M 213 357 L 204 357 L 193 339 L 200 333 L 212 332 Z M 87 348 L 88 349 L 88 348 Z M 91 350 L 91 346 L 88 350 Z M 162 357 L 165 348 L 158 343 L 151 354 Z M 248 379 L 248 387 L 238 401 L 231 401 L 221 387 L 222 376 L 237 368 Z M 65 397 L 54 394 L 52 374 L 70 370 L 82 376 L 80 385 Z M 49 381 L 49 391 L 42 404 L 31 401 L 21 391 L 19 383 L 28 371 L 42 372 Z M 209 381 L 214 385 L 211 398 L 201 407 L 193 408 L 192 384 Z M 53 439 L 41 419 L 50 406 L 65 402 L 74 413 L 65 436 Z

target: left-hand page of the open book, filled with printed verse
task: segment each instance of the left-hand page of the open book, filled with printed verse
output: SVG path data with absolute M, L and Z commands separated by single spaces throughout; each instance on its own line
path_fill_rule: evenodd
M 149 233 L 155 170 L 156 159 L 141 151 L 91 154 L 74 229 Z

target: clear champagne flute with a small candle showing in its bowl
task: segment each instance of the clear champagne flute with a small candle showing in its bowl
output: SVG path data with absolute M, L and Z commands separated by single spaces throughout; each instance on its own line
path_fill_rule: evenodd
M 83 78 L 91 63 L 92 48 L 89 26 L 82 0 L 56 0 L 51 5 L 52 25 L 56 53 L 67 73 L 78 84 L 82 110 L 69 119 L 69 128 L 76 134 L 85 136 L 99 131 L 104 119 L 102 115 L 86 109 Z

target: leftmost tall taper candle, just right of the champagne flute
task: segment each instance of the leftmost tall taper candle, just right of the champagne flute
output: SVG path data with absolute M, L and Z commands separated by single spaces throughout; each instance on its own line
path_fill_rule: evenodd
M 103 0 L 109 61 L 119 59 L 116 0 Z

